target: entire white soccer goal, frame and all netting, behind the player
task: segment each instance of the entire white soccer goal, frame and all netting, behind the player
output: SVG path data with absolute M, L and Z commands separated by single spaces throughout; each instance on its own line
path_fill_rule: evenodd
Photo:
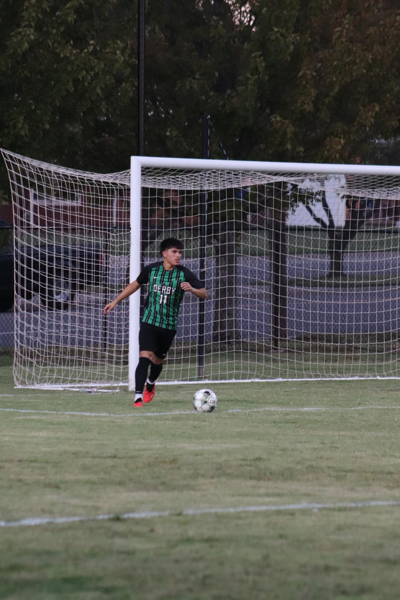
M 185 294 L 164 382 L 398 377 L 400 169 L 137 158 L 82 173 L 3 153 L 14 203 L 17 385 L 134 385 L 160 242 Z

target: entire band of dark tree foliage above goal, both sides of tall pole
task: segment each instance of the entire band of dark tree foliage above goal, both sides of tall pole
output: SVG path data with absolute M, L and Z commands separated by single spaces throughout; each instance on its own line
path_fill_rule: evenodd
M 4 0 L 0 145 L 126 169 L 136 11 L 128 0 Z M 200 156 L 207 112 L 229 158 L 387 160 L 374 149 L 399 135 L 393 0 L 148 0 L 146 11 L 146 154 Z M 213 135 L 210 156 L 224 157 Z

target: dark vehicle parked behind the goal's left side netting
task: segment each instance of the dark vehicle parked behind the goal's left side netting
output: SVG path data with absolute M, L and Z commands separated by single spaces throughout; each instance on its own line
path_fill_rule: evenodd
M 15 263 L 13 252 L 0 254 L 0 311 L 14 304 L 14 266 L 17 296 L 30 300 L 37 294 L 50 310 L 64 310 L 77 290 L 103 281 L 103 254 L 97 245 L 23 246 L 15 251 Z

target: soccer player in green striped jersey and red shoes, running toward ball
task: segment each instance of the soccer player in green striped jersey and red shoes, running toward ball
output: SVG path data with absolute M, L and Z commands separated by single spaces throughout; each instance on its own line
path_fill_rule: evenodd
M 176 335 L 179 305 L 184 293 L 190 292 L 197 298 L 207 298 L 201 281 L 179 264 L 183 247 L 179 239 L 164 239 L 160 244 L 163 262 L 146 266 L 136 281 L 125 287 L 115 300 L 104 307 L 104 314 L 109 314 L 118 302 L 137 292 L 143 284 L 149 283 L 139 329 L 139 364 L 135 371 L 134 407 L 143 406 L 143 402 L 151 402 L 154 398 L 155 382 L 163 370 L 164 358 Z

